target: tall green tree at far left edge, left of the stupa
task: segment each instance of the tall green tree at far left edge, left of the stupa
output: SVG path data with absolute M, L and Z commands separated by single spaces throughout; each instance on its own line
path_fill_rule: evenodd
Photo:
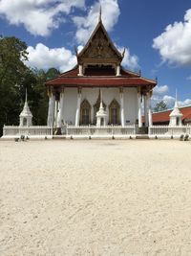
M 17 84 L 28 69 L 27 45 L 16 37 L 0 37 L 0 133 L 4 124 L 18 124 L 20 94 Z

